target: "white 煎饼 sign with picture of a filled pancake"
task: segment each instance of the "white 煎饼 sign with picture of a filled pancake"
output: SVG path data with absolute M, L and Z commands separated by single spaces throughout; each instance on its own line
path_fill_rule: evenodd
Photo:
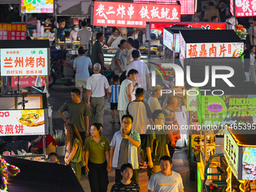
M 0 111 L 0 136 L 21 135 L 44 135 L 44 109 Z

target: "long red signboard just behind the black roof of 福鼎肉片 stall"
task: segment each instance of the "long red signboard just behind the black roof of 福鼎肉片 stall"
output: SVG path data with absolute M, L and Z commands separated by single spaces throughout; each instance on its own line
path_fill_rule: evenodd
M 193 28 L 201 28 L 201 29 L 227 29 L 226 23 L 181 23 L 181 22 L 152 22 L 151 29 L 159 29 L 163 32 L 164 27 L 170 27 L 174 25 L 187 25 Z

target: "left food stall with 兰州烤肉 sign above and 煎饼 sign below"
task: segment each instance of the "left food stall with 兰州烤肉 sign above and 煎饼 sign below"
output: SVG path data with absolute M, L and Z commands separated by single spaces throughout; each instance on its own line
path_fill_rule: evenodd
M 17 40 L 15 44 L 12 41 L 0 41 L 0 52 L 0 69 L 3 78 L 0 116 L 6 119 L 1 121 L 1 135 L 24 136 L 49 133 L 49 128 L 51 130 L 48 123 L 50 118 L 47 103 L 47 75 L 50 70 L 49 41 Z M 32 81 L 40 76 L 44 76 L 45 79 L 45 93 L 32 84 Z M 20 90 L 20 87 L 29 89 L 29 85 L 38 93 L 32 94 L 29 90 Z M 24 120 L 23 116 L 26 115 L 32 115 L 32 119 Z

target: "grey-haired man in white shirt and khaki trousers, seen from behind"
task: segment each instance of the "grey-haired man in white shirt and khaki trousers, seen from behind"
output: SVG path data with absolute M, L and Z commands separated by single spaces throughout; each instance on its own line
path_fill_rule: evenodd
M 87 80 L 87 103 L 90 108 L 90 123 L 102 123 L 104 114 L 104 96 L 108 99 L 108 79 L 100 72 L 101 65 L 93 65 L 93 75 Z

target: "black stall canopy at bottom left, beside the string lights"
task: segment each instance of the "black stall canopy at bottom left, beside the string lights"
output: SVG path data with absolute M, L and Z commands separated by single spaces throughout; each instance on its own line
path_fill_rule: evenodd
M 4 158 L 8 163 L 20 168 L 20 173 L 16 177 L 8 176 L 8 191 L 84 192 L 70 166 L 14 157 Z

